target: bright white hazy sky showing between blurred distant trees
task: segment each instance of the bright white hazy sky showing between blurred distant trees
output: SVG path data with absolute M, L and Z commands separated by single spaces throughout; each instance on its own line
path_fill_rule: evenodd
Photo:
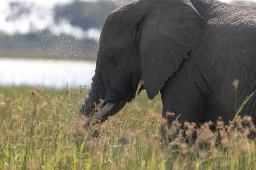
M 63 22 L 56 25 L 53 21 L 52 9 L 56 4 L 69 3 L 72 0 L 0 0 L 0 31 L 7 34 L 25 34 L 30 31 L 39 31 L 50 28 L 54 34 L 66 33 L 73 35 L 77 38 L 89 37 L 95 40 L 99 39 L 100 30 L 97 28 L 82 30 L 80 27 L 71 26 L 69 23 Z M 96 0 L 83 0 L 83 1 L 96 1 Z M 112 0 L 119 1 L 119 0 Z M 256 2 L 256 0 L 252 0 Z M 21 17 L 19 20 L 6 21 L 6 17 L 13 12 L 9 9 L 10 2 L 24 3 L 31 9 L 29 17 Z M 222 0 L 222 2 L 230 2 L 230 0 Z M 32 6 L 32 4 L 35 4 Z

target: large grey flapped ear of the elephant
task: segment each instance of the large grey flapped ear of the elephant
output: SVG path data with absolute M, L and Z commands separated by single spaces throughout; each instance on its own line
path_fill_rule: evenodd
M 152 99 L 199 45 L 204 20 L 189 0 L 140 0 L 133 6 L 140 11 L 135 12 L 140 19 L 138 53 L 144 88 Z

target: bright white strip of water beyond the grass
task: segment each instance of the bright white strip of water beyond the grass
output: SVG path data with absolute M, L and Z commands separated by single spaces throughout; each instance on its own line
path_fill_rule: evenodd
M 0 58 L 0 86 L 91 86 L 95 62 Z

